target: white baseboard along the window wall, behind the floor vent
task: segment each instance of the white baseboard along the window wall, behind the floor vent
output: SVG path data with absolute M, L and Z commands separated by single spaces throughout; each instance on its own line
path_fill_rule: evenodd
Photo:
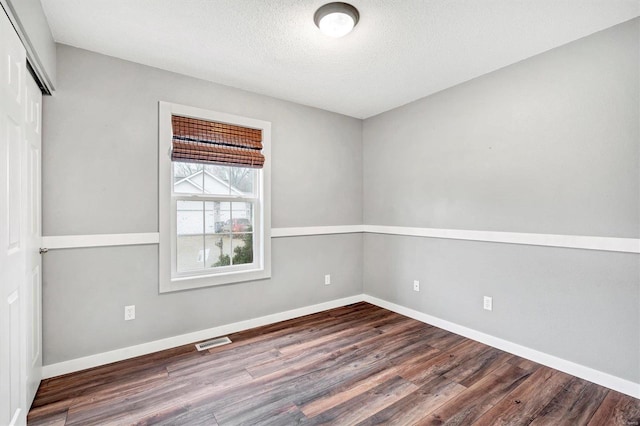
M 166 339 L 155 340 L 152 342 L 142 343 L 127 348 L 89 355 L 82 358 L 59 362 L 57 364 L 45 365 L 42 367 L 42 378 L 48 379 L 50 377 L 61 376 L 63 374 L 73 373 L 75 371 L 86 370 L 87 368 L 110 364 L 112 362 L 122 361 L 141 355 L 147 355 L 153 352 L 171 349 L 177 346 L 187 345 L 189 343 L 195 343 L 213 337 L 237 333 L 239 331 L 248 330 L 250 328 L 273 324 L 279 321 L 285 321 L 304 315 L 315 314 L 317 312 L 322 312 L 328 309 L 338 308 L 340 306 L 350 305 L 357 302 L 362 302 L 361 294 L 345 297 L 342 299 L 331 300 L 329 302 L 319 303 L 317 305 L 292 309 L 290 311 L 265 315 L 263 317 L 253 318 L 246 321 L 239 321 L 232 324 L 221 325 L 219 327 L 213 327 L 206 330 L 195 331 L 193 333 L 168 337 Z

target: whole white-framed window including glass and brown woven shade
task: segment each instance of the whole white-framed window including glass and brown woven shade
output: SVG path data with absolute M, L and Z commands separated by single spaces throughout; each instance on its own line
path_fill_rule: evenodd
M 161 102 L 160 292 L 269 278 L 268 122 Z

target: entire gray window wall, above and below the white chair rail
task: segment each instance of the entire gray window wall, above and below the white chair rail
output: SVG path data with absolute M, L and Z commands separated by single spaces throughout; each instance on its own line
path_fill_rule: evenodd
M 43 106 L 44 235 L 158 231 L 159 100 L 272 123 L 273 227 L 362 223 L 360 120 L 67 46 L 58 75 Z M 362 293 L 362 235 L 272 244 L 270 280 L 163 295 L 156 246 L 51 251 L 44 364 Z

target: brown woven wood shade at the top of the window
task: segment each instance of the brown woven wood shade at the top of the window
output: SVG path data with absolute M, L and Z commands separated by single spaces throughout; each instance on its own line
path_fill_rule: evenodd
M 171 116 L 172 161 L 262 168 L 262 130 Z

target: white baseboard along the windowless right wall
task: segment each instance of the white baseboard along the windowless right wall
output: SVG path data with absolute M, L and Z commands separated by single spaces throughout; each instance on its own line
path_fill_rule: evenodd
M 513 355 L 529 359 L 537 362 L 538 364 L 546 365 L 547 367 L 560 370 L 564 373 L 571 374 L 572 376 L 605 386 L 634 398 L 640 398 L 640 383 L 621 379 L 620 377 L 616 377 L 581 364 L 576 364 L 575 362 L 567 361 L 526 346 L 518 345 L 516 343 L 509 342 L 508 340 L 500 339 L 499 337 L 491 336 L 401 305 L 396 305 L 395 303 L 387 302 L 386 300 L 378 299 L 377 297 L 369 296 L 368 294 L 363 295 L 363 300 L 420 322 L 442 328 L 477 342 L 484 343 L 485 345 L 509 352 Z

